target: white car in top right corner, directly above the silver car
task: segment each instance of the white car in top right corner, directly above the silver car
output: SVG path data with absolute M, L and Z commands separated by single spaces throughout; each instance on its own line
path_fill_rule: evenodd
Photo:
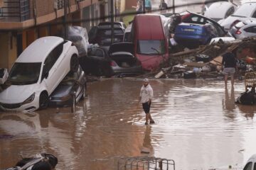
M 246 2 L 235 13 L 228 16 L 228 18 L 218 21 L 218 23 L 228 32 L 236 23 L 253 18 L 256 19 L 256 2 Z

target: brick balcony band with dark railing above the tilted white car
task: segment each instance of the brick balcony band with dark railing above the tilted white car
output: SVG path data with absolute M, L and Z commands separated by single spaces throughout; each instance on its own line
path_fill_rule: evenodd
M 67 11 L 97 3 L 98 0 L 67 0 Z M 0 30 L 28 28 L 64 16 L 64 0 L 0 1 Z

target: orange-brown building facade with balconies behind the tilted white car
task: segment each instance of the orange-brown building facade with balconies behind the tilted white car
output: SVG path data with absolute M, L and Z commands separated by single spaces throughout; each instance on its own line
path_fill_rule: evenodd
M 99 22 L 91 19 L 100 18 L 108 10 L 104 0 L 66 2 L 68 25 L 83 26 L 87 31 Z M 64 14 L 64 0 L 0 0 L 0 68 L 10 69 L 37 38 L 63 35 Z

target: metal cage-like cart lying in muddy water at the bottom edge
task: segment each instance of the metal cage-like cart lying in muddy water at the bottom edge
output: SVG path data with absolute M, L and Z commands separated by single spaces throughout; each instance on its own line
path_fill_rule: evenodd
M 175 170 L 174 160 L 156 157 L 122 157 L 117 166 L 117 170 Z

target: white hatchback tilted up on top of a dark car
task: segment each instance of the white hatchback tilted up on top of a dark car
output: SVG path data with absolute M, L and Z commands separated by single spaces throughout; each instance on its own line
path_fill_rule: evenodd
M 18 57 L 9 72 L 9 87 L 0 93 L 4 111 L 46 108 L 49 96 L 68 72 L 77 71 L 78 50 L 59 37 L 35 40 Z

